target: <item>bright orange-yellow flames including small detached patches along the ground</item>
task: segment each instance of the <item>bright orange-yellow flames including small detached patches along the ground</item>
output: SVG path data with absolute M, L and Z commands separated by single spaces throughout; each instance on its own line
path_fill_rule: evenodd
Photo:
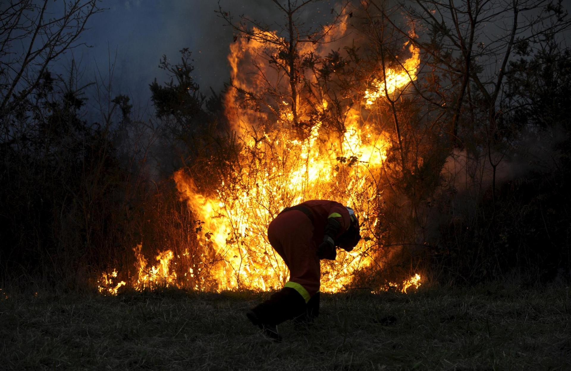
M 276 34 L 268 36 L 278 38 Z M 228 60 L 236 87 L 262 93 L 262 82 L 241 71 L 240 66 L 268 68 L 263 61 L 242 63 L 255 59 L 259 49 L 267 47 L 255 39 L 240 39 L 231 46 Z M 311 47 L 311 43 L 304 47 Z M 365 92 L 367 106 L 416 79 L 419 54 L 413 46 L 409 51 L 412 57 L 402 70 L 387 69 L 386 77 L 373 83 L 377 90 Z M 196 228 L 196 244 L 201 251 L 198 263 L 190 267 L 177 264 L 180 256 L 167 250 L 158 253 L 156 264 L 150 264 L 143 256 L 142 245 L 138 245 L 134 248 L 137 271 L 130 285 L 136 290 L 159 286 L 208 291 L 282 288 L 289 273 L 268 243 L 268 224 L 288 206 L 309 199 L 331 199 L 355 209 L 364 239 L 353 251 L 340 251 L 335 262 L 322 263 L 321 291 L 338 292 L 349 287 L 355 272 L 380 264 L 371 251 L 378 244 L 380 174 L 391 143 L 389 135 L 363 124 L 355 109 L 348 110 L 342 135 L 332 136 L 322 123 L 314 124 L 305 139 L 292 138 L 290 131 L 280 130 L 278 124 L 260 132 L 253 123 L 260 117 L 267 119 L 267 114 L 240 110 L 235 99 L 236 91 L 230 90 L 226 96 L 227 115 L 240 134 L 241 144 L 238 166 L 224 178 L 232 179 L 232 184 L 222 180 L 217 189 L 206 194 L 183 170 L 174 174 L 181 199 L 200 223 Z M 314 109 L 325 112 L 328 105 L 324 99 Z M 292 121 L 285 100 L 276 120 L 281 127 Z M 185 251 L 182 255 L 189 254 Z M 99 291 L 116 294 L 126 285 L 124 281 L 116 282 L 116 277 L 115 270 L 103 273 Z M 415 275 L 399 287 L 407 292 L 419 287 L 420 281 L 420 275 Z

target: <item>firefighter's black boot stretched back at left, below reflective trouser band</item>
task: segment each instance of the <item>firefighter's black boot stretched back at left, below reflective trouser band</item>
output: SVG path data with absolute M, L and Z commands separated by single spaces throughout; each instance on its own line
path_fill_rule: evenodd
M 277 325 L 299 317 L 305 310 L 305 299 L 295 289 L 284 287 L 270 296 L 270 299 L 256 305 L 246 313 L 248 320 L 277 341 L 281 340 Z

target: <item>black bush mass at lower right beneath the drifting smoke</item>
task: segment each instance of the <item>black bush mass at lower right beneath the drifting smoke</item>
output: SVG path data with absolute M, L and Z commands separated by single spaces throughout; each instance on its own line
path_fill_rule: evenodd
M 504 276 L 528 284 L 568 280 L 569 187 L 561 173 L 534 172 L 505 183 L 495 204 L 488 193 L 471 215 L 441 227 L 432 263 L 460 284 Z

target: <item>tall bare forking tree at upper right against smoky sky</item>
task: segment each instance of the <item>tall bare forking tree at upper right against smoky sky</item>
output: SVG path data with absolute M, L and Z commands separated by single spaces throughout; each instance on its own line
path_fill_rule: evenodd
M 369 1 L 366 7 L 419 48 L 424 67 L 414 83 L 417 94 L 441 111 L 451 149 L 467 148 L 478 163 L 485 156 L 494 193 L 498 164 L 514 139 L 502 107 L 509 63 L 516 53 L 533 54 L 571 28 L 562 1 L 413 0 L 393 7 Z M 418 36 L 395 22 L 395 10 L 410 19 Z

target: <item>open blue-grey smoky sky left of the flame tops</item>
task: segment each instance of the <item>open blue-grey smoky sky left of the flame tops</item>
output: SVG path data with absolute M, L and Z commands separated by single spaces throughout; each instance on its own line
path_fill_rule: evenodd
M 330 16 L 331 3 L 321 2 L 303 14 L 308 23 L 323 23 Z M 195 78 L 204 94 L 223 88 L 230 74 L 227 55 L 232 42 L 232 30 L 214 11 L 215 0 L 103 0 L 108 8 L 93 16 L 82 41 L 91 46 L 74 50 L 61 59 L 62 65 L 71 58 L 81 60 L 85 82 L 93 81 L 99 68 L 107 75 L 108 59 L 115 58 L 113 78 L 115 94 L 131 96 L 135 107 L 146 107 L 150 102 L 148 84 L 156 77 L 167 80 L 159 70 L 163 54 L 174 63 L 179 50 L 188 47 L 195 60 Z M 275 5 L 267 0 L 223 0 L 220 5 L 238 18 L 247 14 L 267 23 L 280 21 Z M 327 10 L 325 10 L 327 9 Z M 110 53 L 109 53 L 110 51 Z

